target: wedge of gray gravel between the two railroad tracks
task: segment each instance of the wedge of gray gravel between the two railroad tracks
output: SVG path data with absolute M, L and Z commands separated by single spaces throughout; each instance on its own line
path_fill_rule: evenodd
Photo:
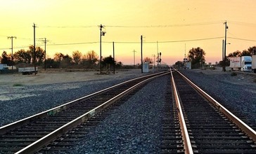
M 159 153 L 169 78 L 152 80 L 66 153 Z

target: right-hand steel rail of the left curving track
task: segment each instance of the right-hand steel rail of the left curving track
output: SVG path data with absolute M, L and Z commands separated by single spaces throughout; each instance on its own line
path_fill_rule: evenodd
M 167 72 L 169 73 L 169 72 Z M 69 123 L 59 127 L 57 130 L 54 130 L 53 132 L 47 134 L 44 137 L 41 137 L 41 139 L 34 141 L 34 143 L 30 144 L 29 146 L 26 146 L 25 148 L 21 149 L 20 151 L 16 152 L 15 154 L 27 154 L 27 153 L 34 153 L 38 151 L 43 146 L 46 146 L 47 144 L 50 144 L 51 141 L 54 139 L 57 139 L 61 135 L 63 135 L 65 132 L 68 132 L 68 130 L 71 130 L 73 127 L 76 127 L 77 125 L 84 123 L 84 121 L 88 120 L 91 116 L 94 114 L 102 111 L 105 109 L 105 107 L 109 106 L 110 104 L 113 104 L 113 102 L 116 102 L 118 99 L 123 97 L 125 94 L 128 94 L 129 92 L 132 92 L 136 87 L 139 85 L 142 85 L 143 83 L 146 83 L 148 80 L 152 80 L 153 78 L 157 78 L 159 76 L 164 76 L 167 73 L 159 73 L 157 76 L 153 76 L 151 78 L 147 78 L 146 80 L 141 81 L 140 83 L 137 83 L 136 85 L 129 87 L 129 89 L 125 90 L 124 92 L 121 92 L 120 94 L 117 94 L 117 96 L 113 97 L 112 99 L 109 99 L 107 102 L 101 104 L 100 106 L 97 106 L 95 109 L 92 109 L 91 111 L 88 111 L 87 113 L 84 113 L 84 115 L 79 116 L 75 120 L 70 121 Z

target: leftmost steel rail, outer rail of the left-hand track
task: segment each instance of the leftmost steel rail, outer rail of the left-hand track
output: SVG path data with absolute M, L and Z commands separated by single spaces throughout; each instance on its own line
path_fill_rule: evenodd
M 162 72 L 160 72 L 160 73 L 162 73 Z M 16 127 L 20 127 L 21 125 L 25 125 L 27 123 L 30 123 L 31 121 L 37 120 L 38 118 L 44 118 L 46 116 L 53 116 L 56 113 L 58 113 L 60 111 L 63 111 L 65 109 L 68 109 L 69 107 L 71 107 L 71 106 L 73 106 L 75 104 L 79 104 L 80 102 L 83 102 L 84 99 L 89 99 L 91 97 L 94 97 L 97 94 L 100 94 L 101 92 L 105 92 L 105 91 L 111 90 L 111 89 L 113 89 L 113 88 L 115 88 L 117 86 L 123 85 L 125 83 L 132 82 L 133 80 L 137 80 L 139 78 L 145 78 L 145 77 L 148 77 L 148 76 L 154 76 L 154 75 L 158 75 L 160 73 L 154 73 L 154 74 L 150 74 L 150 75 L 146 75 L 146 76 L 140 76 L 138 78 L 133 78 L 131 80 L 124 81 L 123 83 L 118 83 L 117 85 L 113 85 L 112 87 L 107 87 L 107 88 L 105 88 L 103 90 L 100 90 L 98 92 L 94 92 L 92 94 L 88 94 L 87 96 L 81 97 L 79 99 L 75 99 L 75 100 L 73 100 L 71 102 L 62 104 L 60 106 L 56 106 L 53 109 L 49 109 L 49 110 L 43 111 L 41 113 L 37 113 L 37 114 L 35 114 L 33 116 L 29 116 L 27 118 L 23 118 L 21 120 L 15 121 L 15 122 L 10 123 L 8 125 L 4 125 L 4 126 L 0 127 L 0 134 L 5 134 L 7 131 L 14 130 Z

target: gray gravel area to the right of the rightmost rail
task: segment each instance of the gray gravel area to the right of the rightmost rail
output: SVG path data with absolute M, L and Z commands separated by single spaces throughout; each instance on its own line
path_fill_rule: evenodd
M 231 76 L 231 72 L 219 70 L 179 71 L 226 109 L 245 116 L 256 126 L 256 74 L 237 72 L 237 76 Z

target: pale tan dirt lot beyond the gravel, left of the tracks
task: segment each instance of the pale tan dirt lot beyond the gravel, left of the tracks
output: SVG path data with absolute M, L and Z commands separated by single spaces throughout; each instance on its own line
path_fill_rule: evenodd
M 103 78 L 118 78 L 118 76 L 125 76 L 131 73 L 139 73 L 139 69 L 135 70 L 119 70 L 109 74 L 99 75 L 99 71 L 39 71 L 37 75 L 22 75 L 15 74 L 0 74 L 0 88 L 1 85 L 15 86 L 15 85 L 44 85 L 51 83 L 70 83 L 76 81 L 95 80 Z

